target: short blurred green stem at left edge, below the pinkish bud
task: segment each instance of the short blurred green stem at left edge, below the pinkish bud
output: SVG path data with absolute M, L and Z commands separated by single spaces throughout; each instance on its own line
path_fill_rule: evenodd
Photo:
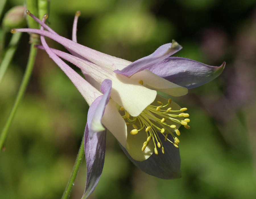
M 11 60 L 13 59 L 13 55 L 17 49 L 17 44 L 18 44 L 18 41 L 20 40 L 20 37 L 21 37 L 21 33 L 16 33 L 12 35 L 8 50 L 6 51 L 5 57 L 3 58 L 3 61 L 0 65 L 0 83 L 3 79 L 3 76 L 5 74 L 7 67 L 9 66 Z

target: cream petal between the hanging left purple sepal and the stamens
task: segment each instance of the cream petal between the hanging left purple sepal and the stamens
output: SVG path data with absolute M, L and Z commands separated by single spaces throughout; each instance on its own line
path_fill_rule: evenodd
M 115 101 L 110 99 L 101 122 L 115 136 L 118 142 L 126 148 L 127 127 L 123 117 L 117 110 L 117 106 Z

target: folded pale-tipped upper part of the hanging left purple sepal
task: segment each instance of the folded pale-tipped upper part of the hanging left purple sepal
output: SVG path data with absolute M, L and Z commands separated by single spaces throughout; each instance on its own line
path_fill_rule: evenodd
M 101 95 L 92 102 L 87 115 L 87 123 L 89 129 L 89 137 L 92 138 L 92 135 L 95 132 L 100 132 L 105 130 L 101 123 L 102 116 L 105 111 L 105 107 L 109 102 L 110 92 L 111 92 L 112 82 L 111 80 L 104 80 L 101 84 L 102 92 L 104 95 Z

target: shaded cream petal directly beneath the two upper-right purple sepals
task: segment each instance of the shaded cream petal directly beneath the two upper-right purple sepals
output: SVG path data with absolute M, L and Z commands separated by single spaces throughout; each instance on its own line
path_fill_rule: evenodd
M 186 95 L 188 92 L 187 88 L 169 82 L 147 69 L 133 74 L 130 79 L 137 82 L 143 80 L 143 85 L 145 87 L 158 90 L 175 97 Z

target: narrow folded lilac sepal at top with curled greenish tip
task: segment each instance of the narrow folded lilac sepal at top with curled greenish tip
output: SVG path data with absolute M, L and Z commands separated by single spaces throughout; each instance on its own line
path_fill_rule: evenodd
M 164 60 L 166 57 L 171 56 L 172 54 L 181 50 L 181 46 L 176 42 L 172 41 L 172 43 L 164 44 L 156 49 L 151 55 L 138 59 L 134 61 L 127 67 L 123 68 L 122 70 L 114 70 L 114 72 L 123 74 L 125 76 L 131 76 L 136 72 L 142 71 L 147 69 L 156 63 Z

